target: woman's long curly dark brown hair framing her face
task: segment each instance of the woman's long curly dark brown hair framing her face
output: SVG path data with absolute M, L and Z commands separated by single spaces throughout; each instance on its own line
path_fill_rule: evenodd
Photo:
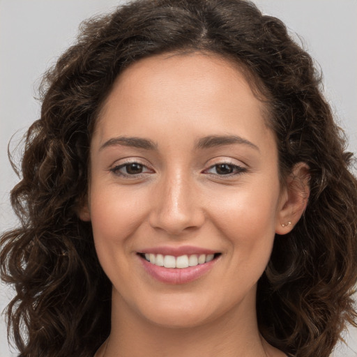
M 259 280 L 259 329 L 296 357 L 327 357 L 347 323 L 357 281 L 357 181 L 351 153 L 321 94 L 309 54 L 284 24 L 242 0 L 139 0 L 81 26 L 49 70 L 40 119 L 26 135 L 11 202 L 22 225 L 1 236 L 1 278 L 15 286 L 8 332 L 21 357 L 88 357 L 110 329 L 111 284 L 89 222 L 89 146 L 114 80 L 165 52 L 212 52 L 239 63 L 266 102 L 280 174 L 310 167 L 310 199 L 296 227 L 275 237 Z

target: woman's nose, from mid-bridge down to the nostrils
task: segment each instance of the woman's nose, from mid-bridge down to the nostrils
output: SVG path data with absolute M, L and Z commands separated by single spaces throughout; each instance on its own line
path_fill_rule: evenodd
M 204 209 L 193 179 L 180 172 L 167 175 L 156 185 L 149 216 L 151 227 L 179 236 L 204 223 Z

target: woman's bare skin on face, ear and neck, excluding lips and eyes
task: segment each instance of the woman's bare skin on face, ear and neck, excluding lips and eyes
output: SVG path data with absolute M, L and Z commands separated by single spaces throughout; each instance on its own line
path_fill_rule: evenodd
M 255 295 L 275 233 L 290 231 L 305 208 L 293 179 L 305 167 L 279 181 L 263 111 L 238 66 L 212 54 L 152 56 L 116 80 L 93 134 L 80 213 L 113 284 L 112 332 L 98 356 L 284 356 L 259 335 Z M 231 135 L 241 140 L 197 147 Z M 130 175 L 128 162 L 141 172 Z M 137 255 L 158 245 L 220 257 L 199 279 L 166 284 Z

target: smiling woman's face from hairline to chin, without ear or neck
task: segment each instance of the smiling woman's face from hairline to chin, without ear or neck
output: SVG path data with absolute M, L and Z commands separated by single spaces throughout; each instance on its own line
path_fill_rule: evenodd
M 116 80 L 80 213 L 114 307 L 161 326 L 254 316 L 285 197 L 263 109 L 213 55 L 152 56 Z

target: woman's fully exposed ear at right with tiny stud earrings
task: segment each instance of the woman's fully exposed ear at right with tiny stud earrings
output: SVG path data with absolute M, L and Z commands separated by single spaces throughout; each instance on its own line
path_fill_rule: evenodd
M 310 168 L 305 162 L 294 165 L 280 197 L 275 233 L 287 234 L 303 215 L 310 196 Z

